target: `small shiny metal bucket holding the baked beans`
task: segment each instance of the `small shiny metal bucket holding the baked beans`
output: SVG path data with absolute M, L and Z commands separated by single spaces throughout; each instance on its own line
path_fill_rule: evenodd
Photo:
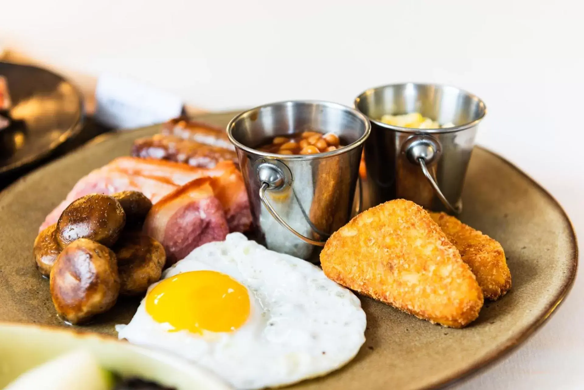
M 347 146 L 308 155 L 256 148 L 274 136 L 317 130 Z M 256 239 L 269 249 L 311 259 L 351 217 L 367 118 L 319 101 L 271 103 L 239 114 L 227 126 L 248 190 Z

